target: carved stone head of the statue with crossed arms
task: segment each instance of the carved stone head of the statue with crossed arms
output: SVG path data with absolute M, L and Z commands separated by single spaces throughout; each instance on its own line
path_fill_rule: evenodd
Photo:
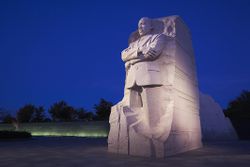
M 152 20 L 148 17 L 143 17 L 138 23 L 138 32 L 140 36 L 148 34 L 153 29 Z

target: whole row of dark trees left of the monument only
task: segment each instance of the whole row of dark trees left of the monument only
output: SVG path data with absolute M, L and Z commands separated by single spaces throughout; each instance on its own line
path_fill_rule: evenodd
M 0 109 L 0 120 L 3 123 L 28 123 L 28 122 L 70 122 L 70 121 L 104 121 L 109 119 L 112 102 L 103 98 L 98 104 L 93 106 L 94 111 L 87 111 L 85 108 L 75 108 L 67 102 L 61 100 L 50 106 L 48 114 L 43 106 L 35 106 L 26 104 L 17 110 L 16 116 L 13 117 L 10 113 Z

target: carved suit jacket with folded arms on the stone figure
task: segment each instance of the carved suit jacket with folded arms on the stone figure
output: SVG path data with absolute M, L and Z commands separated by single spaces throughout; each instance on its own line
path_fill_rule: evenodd
M 162 85 L 158 58 L 166 45 L 163 34 L 149 34 L 131 43 L 122 51 L 122 60 L 129 63 L 126 88 L 133 86 Z

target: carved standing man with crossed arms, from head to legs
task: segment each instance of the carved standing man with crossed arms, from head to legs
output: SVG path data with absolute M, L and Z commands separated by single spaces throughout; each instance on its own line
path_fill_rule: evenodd
M 156 60 L 167 41 L 165 35 L 152 34 L 151 31 L 151 20 L 142 18 L 138 24 L 140 37 L 122 52 L 127 71 L 125 89 L 129 91 L 129 100 L 132 101 L 127 104 L 132 109 L 130 112 L 142 118 L 133 127 L 136 132 L 149 138 L 158 136 L 156 128 L 162 115 L 159 105 L 162 77 Z

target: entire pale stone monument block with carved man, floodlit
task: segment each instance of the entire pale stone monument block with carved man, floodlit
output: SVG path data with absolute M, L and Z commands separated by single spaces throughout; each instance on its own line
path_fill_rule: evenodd
M 165 157 L 201 147 L 194 56 L 182 20 L 140 19 L 121 57 L 124 97 L 110 114 L 109 152 Z

